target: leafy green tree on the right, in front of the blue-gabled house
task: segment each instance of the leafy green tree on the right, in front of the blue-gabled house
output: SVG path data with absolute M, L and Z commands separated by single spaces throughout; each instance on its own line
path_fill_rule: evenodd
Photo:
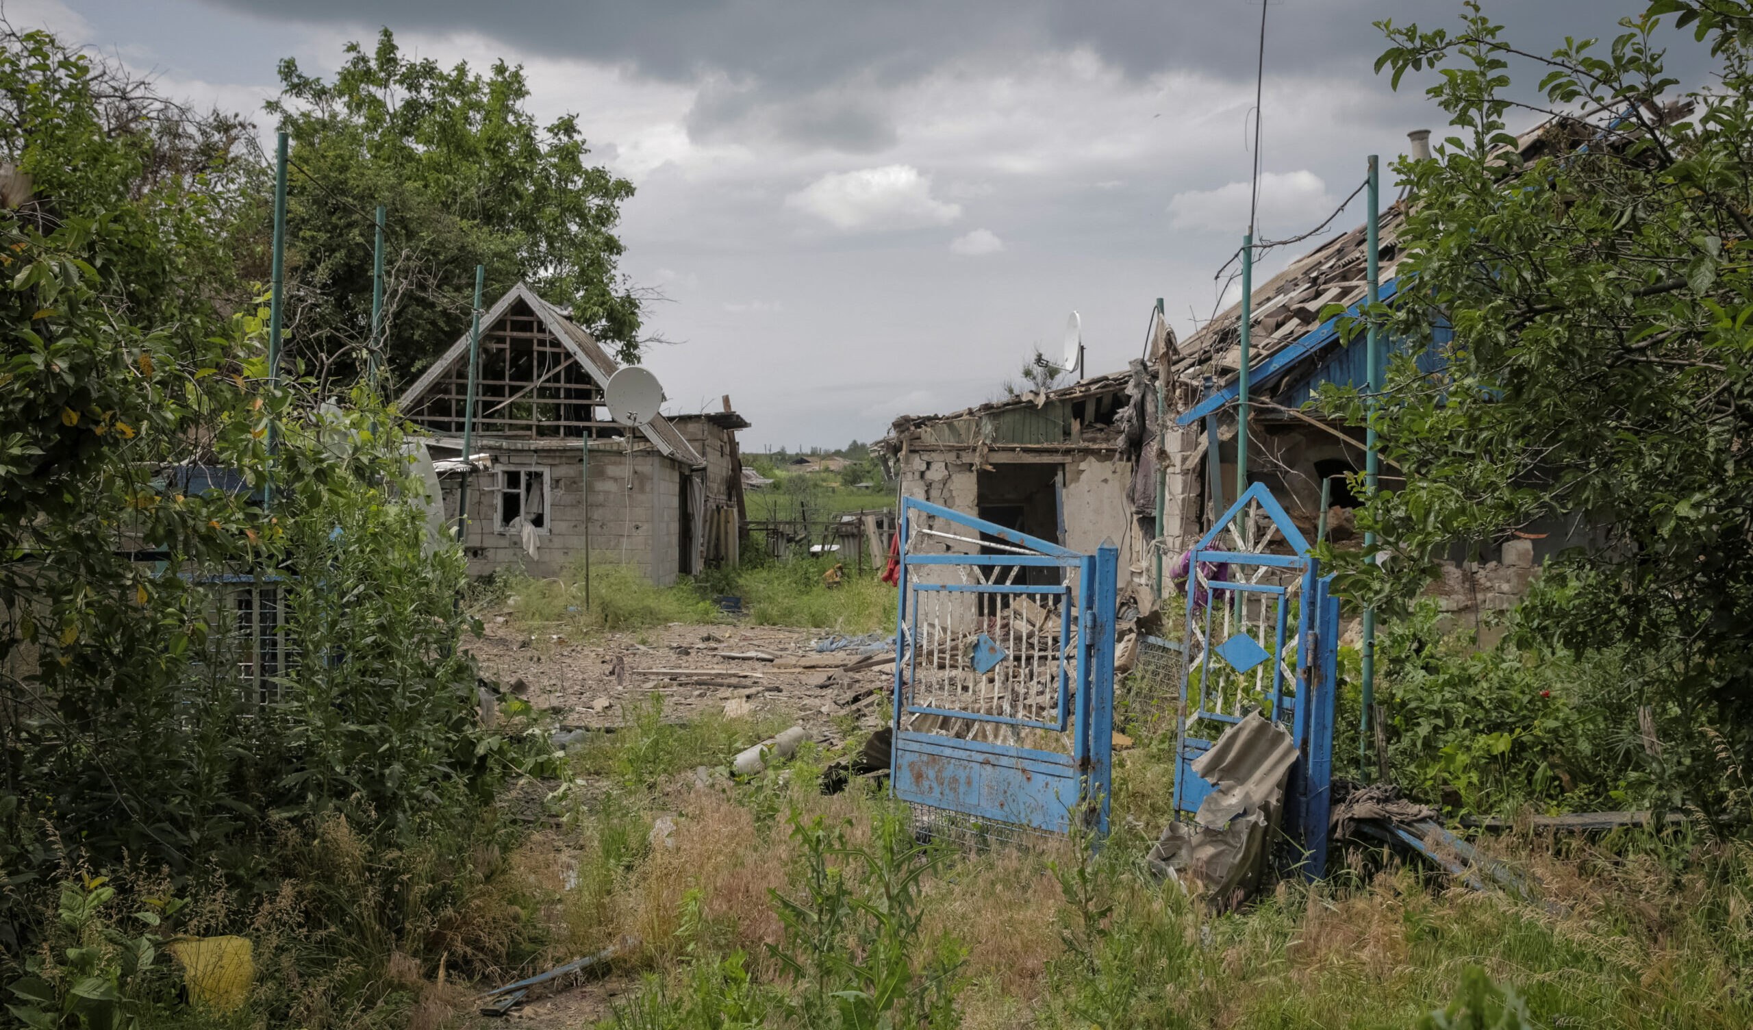
M 1711 86 L 1678 93 L 1667 14 L 1711 44 Z M 1502 39 L 1478 4 L 1455 33 L 1378 25 L 1378 68 L 1395 88 L 1436 70 L 1427 93 L 1455 133 L 1397 166 L 1415 198 L 1409 286 L 1367 319 L 1406 338 L 1446 321 L 1453 347 L 1439 373 L 1390 368 L 1378 427 L 1408 482 L 1359 515 L 1387 568 L 1336 554 L 1341 585 L 1387 606 L 1457 541 L 1536 519 L 1588 527 L 1518 631 L 1630 645 L 1625 688 L 1657 730 L 1636 760 L 1664 788 L 1641 801 L 1711 808 L 1706 729 L 1753 758 L 1753 5 L 1655 0 L 1611 42 L 1551 54 Z M 1544 107 L 1515 100 L 1513 63 L 1541 75 Z M 1530 107 L 1550 121 L 1518 151 L 1506 117 Z M 1357 391 L 1324 403 L 1364 420 Z

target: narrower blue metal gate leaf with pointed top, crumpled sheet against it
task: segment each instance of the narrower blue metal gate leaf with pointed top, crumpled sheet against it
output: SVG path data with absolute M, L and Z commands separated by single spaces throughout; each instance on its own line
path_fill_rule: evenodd
M 1257 709 L 1290 730 L 1301 751 L 1285 792 L 1285 832 L 1302 841 L 1304 872 L 1320 878 L 1339 655 L 1332 576 L 1320 575 L 1308 540 L 1260 483 L 1248 487 L 1187 559 L 1175 809 L 1199 809 L 1213 787 L 1192 771 L 1194 758 Z

